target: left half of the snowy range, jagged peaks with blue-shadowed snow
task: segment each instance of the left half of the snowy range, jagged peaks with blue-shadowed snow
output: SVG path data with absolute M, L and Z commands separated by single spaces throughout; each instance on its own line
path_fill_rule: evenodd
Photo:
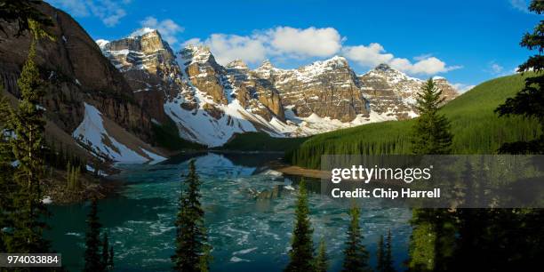
M 188 140 L 217 146 L 236 132 L 282 136 L 269 124 L 284 120 L 279 92 L 241 61 L 223 67 L 204 46 L 188 46 L 175 56 L 151 29 L 97 44 L 142 98 L 141 107 L 151 108 L 159 123 L 172 119 Z

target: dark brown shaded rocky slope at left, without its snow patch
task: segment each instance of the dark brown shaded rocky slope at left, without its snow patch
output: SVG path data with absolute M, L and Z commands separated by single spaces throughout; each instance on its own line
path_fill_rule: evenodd
M 136 102 L 131 86 L 104 58 L 99 46 L 67 13 L 49 4 L 40 5 L 40 9 L 52 18 L 54 26 L 48 31 L 56 38 L 40 40 L 37 46 L 37 64 L 48 84 L 43 100 L 46 118 L 71 135 L 84 120 L 87 102 L 123 133 L 132 133 L 140 141 L 151 140 L 148 113 Z M 0 76 L 5 91 L 17 97 L 20 93 L 16 82 L 27 59 L 30 36 L 14 37 L 17 27 L 0 23 L 7 30 L 7 35 L 0 36 Z

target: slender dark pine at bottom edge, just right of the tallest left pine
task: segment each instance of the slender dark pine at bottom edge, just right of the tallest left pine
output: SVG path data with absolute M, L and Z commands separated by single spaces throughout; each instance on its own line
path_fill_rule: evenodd
M 100 259 L 100 220 L 98 217 L 97 200 L 91 201 L 91 211 L 87 215 L 87 232 L 85 234 L 84 260 L 85 272 L 103 271 L 102 260 Z

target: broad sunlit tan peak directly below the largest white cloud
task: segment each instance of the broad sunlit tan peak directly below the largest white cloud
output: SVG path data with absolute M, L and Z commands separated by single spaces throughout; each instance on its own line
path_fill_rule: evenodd
M 316 114 L 342 122 L 353 121 L 357 115 L 369 116 L 358 78 L 342 57 L 292 70 L 274 68 L 265 61 L 254 74 L 273 84 L 284 107 L 297 116 Z

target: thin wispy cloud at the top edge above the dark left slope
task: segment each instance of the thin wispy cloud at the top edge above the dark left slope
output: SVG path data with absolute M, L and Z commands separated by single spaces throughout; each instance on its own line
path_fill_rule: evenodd
M 51 0 L 54 6 L 66 10 L 76 17 L 95 16 L 108 28 L 115 27 L 126 16 L 124 5 L 131 0 Z

